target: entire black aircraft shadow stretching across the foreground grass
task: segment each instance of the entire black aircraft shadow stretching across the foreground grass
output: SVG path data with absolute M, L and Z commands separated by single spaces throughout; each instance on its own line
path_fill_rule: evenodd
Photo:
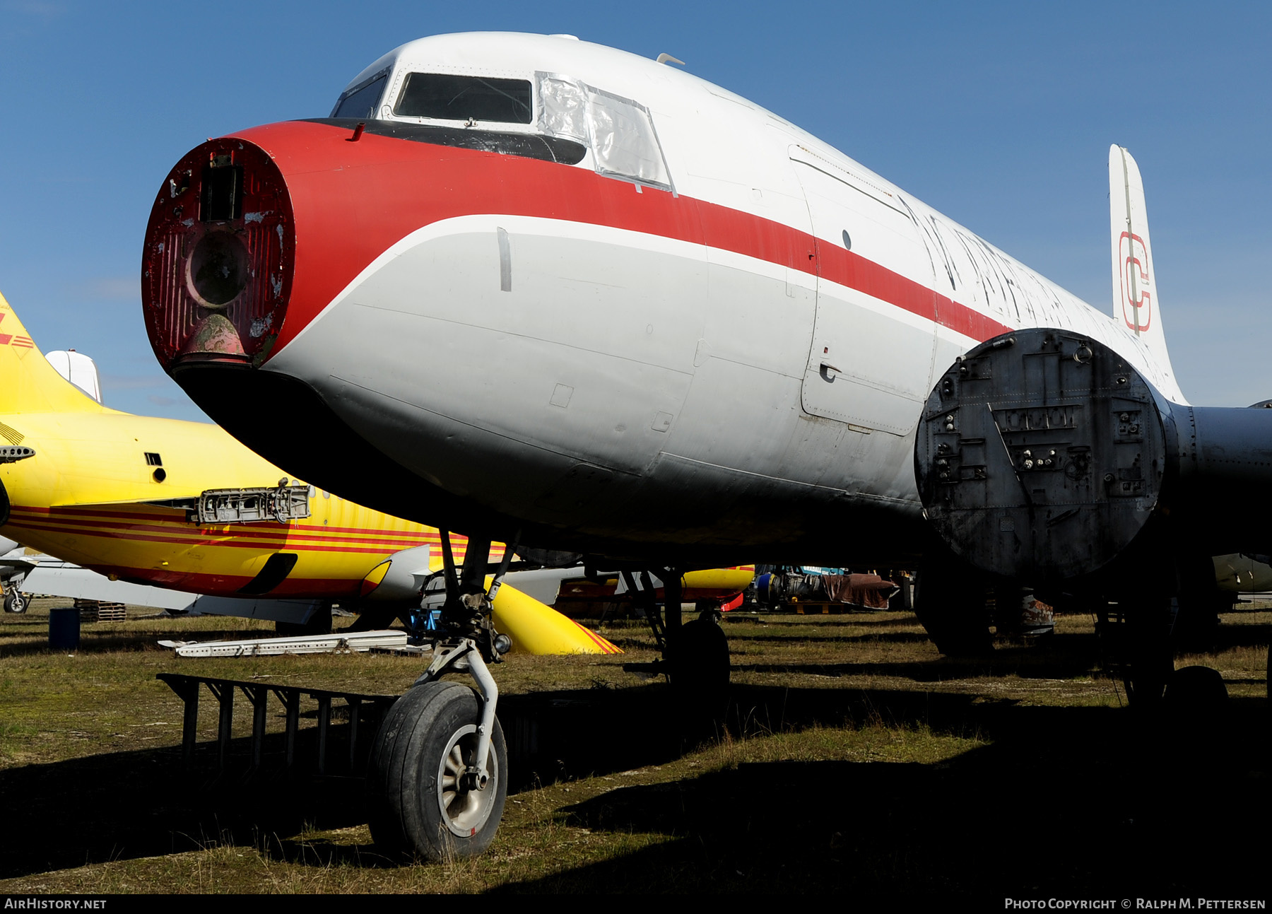
M 1262 699 L 1233 699 L 1225 714 L 1187 726 L 1141 724 L 1124 708 L 836 686 L 739 685 L 730 703 L 735 741 L 875 722 L 898 738 L 974 733 L 981 745 L 940 764 L 773 761 L 618 788 L 566 807 L 566 824 L 661 843 L 506 889 L 649 891 L 658 878 L 672 891 L 1135 883 L 1145 895 L 1266 882 Z M 692 745 L 660 684 L 501 696 L 500 717 L 514 792 L 661 764 Z M 329 757 L 347 757 L 345 732 L 332 727 Z M 301 729 L 301 773 L 314 738 Z M 364 822 L 359 779 L 282 777 L 281 735 L 267 737 L 256 779 L 243 777 L 248 755 L 248 740 L 234 740 L 219 779 L 215 743 L 200 745 L 190 773 L 179 747 L 10 769 L 0 779 L 0 877 L 225 843 L 299 864 L 389 864 L 370 845 L 285 838 Z

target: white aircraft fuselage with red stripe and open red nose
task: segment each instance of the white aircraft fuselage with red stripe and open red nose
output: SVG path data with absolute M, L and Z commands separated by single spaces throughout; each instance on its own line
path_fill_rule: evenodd
M 410 74 L 528 81 L 529 122 L 394 113 Z M 188 154 L 144 288 L 156 354 L 210 415 L 365 504 L 614 556 L 884 563 L 921 549 L 915 429 L 977 342 L 1074 330 L 1183 400 L 1112 316 L 672 66 L 474 33 L 404 45 L 360 85 L 374 117 Z M 200 191 L 226 167 L 240 211 Z M 207 294 L 223 236 L 243 288 Z M 280 378 L 313 410 L 271 418 Z M 378 493 L 315 456 L 355 444 L 383 460 Z

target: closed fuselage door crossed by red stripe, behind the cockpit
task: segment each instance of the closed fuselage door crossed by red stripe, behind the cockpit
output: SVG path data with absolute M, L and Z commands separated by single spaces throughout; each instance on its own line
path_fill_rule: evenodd
M 817 237 L 817 317 L 801 400 L 812 415 L 909 434 L 931 388 L 931 261 L 904 202 L 803 146 L 791 160 Z

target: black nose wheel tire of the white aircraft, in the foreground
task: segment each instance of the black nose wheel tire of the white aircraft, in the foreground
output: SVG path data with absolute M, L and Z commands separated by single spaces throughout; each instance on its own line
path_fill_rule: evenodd
M 383 853 L 454 861 L 490 845 L 508 797 L 508 749 L 496 719 L 490 780 L 464 788 L 480 717 L 477 694 L 458 682 L 416 686 L 385 714 L 366 774 L 371 838 Z

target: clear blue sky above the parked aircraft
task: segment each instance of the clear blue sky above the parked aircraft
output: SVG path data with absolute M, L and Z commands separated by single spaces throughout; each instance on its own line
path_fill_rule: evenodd
M 404 41 L 472 29 L 667 51 L 1100 308 L 1108 145 L 1126 145 L 1184 392 L 1272 397 L 1269 4 L 0 0 L 0 290 L 42 349 L 97 359 L 109 405 L 201 418 L 141 325 L 168 168 L 207 136 L 326 115 Z

